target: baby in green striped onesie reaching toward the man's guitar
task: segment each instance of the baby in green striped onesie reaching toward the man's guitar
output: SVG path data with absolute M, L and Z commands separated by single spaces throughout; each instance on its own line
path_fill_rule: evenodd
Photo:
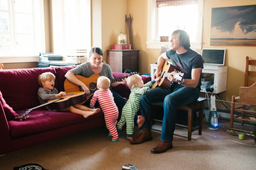
M 131 75 L 127 78 L 127 84 L 131 89 L 131 94 L 122 109 L 122 116 L 116 127 L 117 132 L 120 132 L 126 123 L 126 138 L 129 140 L 133 139 L 132 134 L 134 130 L 134 117 L 140 108 L 140 95 L 143 95 L 149 89 L 149 87 L 151 87 L 155 82 L 159 81 L 159 79 L 160 77 L 143 85 L 140 75 Z

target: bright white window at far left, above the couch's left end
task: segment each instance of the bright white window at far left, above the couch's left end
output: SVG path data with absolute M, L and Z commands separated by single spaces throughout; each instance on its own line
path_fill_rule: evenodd
M 45 50 L 43 0 L 0 0 L 0 56 Z

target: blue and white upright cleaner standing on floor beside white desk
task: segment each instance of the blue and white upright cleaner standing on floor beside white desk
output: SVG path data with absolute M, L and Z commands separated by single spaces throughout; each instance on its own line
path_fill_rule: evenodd
M 211 109 L 209 115 L 209 127 L 210 130 L 218 130 L 218 114 L 215 106 L 215 95 L 211 95 Z

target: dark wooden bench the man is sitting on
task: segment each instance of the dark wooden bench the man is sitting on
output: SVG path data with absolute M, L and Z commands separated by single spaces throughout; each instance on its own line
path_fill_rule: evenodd
M 203 115 L 204 115 L 204 101 L 206 98 L 198 98 L 198 101 L 179 107 L 179 110 L 188 111 L 188 125 L 175 124 L 176 127 L 186 128 L 188 130 L 188 141 L 191 141 L 192 132 L 198 130 L 198 135 L 202 135 Z M 152 104 L 152 106 L 163 106 L 163 102 Z M 193 113 L 195 110 L 199 110 L 198 126 L 192 127 Z M 152 119 L 152 121 L 163 122 L 162 120 Z M 154 130 L 154 129 L 152 129 Z

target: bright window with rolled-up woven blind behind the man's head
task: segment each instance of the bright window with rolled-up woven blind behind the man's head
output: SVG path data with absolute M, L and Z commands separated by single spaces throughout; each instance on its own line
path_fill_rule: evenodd
M 185 30 L 192 49 L 201 49 L 203 0 L 148 0 L 147 48 L 159 48 L 160 36 L 171 36 L 176 29 Z

